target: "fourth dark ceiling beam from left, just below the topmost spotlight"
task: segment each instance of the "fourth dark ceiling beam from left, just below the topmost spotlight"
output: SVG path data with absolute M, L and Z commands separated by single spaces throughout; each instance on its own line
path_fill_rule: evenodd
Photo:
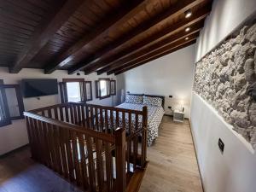
M 108 67 L 109 65 L 111 65 L 111 63 L 113 61 L 118 60 L 119 58 L 122 58 L 125 55 L 127 55 L 131 52 L 134 52 L 137 49 L 141 49 L 144 46 L 154 44 L 155 42 L 158 42 L 163 38 L 166 38 L 166 37 L 168 37 L 168 36 L 170 36 L 170 35 L 172 35 L 176 32 L 180 32 L 185 27 L 191 26 L 191 25 L 193 25 L 193 24 L 195 24 L 195 23 L 197 23 L 201 20 L 204 20 L 207 17 L 207 15 L 210 13 L 210 11 L 211 11 L 211 5 L 209 4 L 209 6 L 199 9 L 189 19 L 177 20 L 176 22 L 174 22 L 172 24 L 172 26 L 167 27 L 166 29 L 154 34 L 153 36 L 151 36 L 149 38 L 145 38 L 143 41 L 135 44 L 131 48 L 125 49 L 125 50 L 121 51 L 119 54 L 113 55 L 113 57 L 110 57 L 105 61 L 100 61 L 92 67 L 84 68 L 84 73 L 89 74 L 89 73 L 92 73 L 96 70 L 100 70 L 103 67 Z

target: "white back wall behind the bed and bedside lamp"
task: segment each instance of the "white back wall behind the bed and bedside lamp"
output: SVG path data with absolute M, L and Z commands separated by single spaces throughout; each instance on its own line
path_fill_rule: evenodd
M 180 109 L 183 100 L 185 117 L 189 117 L 194 60 L 195 44 L 118 75 L 119 88 L 166 96 L 166 113 L 171 113 L 168 106 Z

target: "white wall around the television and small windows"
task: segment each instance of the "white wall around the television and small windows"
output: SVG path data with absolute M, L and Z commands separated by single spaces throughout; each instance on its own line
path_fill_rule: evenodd
M 68 78 L 84 78 L 85 80 L 92 81 L 92 95 L 93 101 L 90 103 L 96 103 L 99 105 L 114 106 L 116 104 L 116 96 L 106 99 L 96 99 L 95 96 L 95 84 L 94 81 L 99 78 L 112 78 L 115 76 L 107 76 L 106 74 L 96 75 L 91 73 L 90 75 L 84 76 L 81 73 L 80 76 L 73 74 L 68 75 L 66 71 L 57 70 L 52 74 L 44 74 L 41 69 L 22 69 L 20 73 L 11 74 L 7 67 L 0 67 L 0 79 L 3 79 L 4 84 L 19 84 L 21 79 L 62 79 Z M 117 82 L 118 84 L 118 82 Z M 25 110 L 32 110 L 34 108 L 43 108 L 46 106 L 54 105 L 61 102 L 59 95 L 54 96 L 40 96 L 40 100 L 37 98 L 24 98 Z M 0 127 L 0 155 L 5 154 L 15 148 L 19 148 L 28 143 L 26 134 L 26 124 L 24 119 L 13 120 L 11 125 Z

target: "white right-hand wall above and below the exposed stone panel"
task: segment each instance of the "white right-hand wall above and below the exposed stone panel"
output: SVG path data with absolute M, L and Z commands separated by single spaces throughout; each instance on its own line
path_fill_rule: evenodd
M 195 61 L 256 11 L 255 0 L 217 0 L 196 44 Z M 192 94 L 191 129 L 205 192 L 255 192 L 256 154 L 200 96 Z M 224 154 L 218 138 L 224 141 Z

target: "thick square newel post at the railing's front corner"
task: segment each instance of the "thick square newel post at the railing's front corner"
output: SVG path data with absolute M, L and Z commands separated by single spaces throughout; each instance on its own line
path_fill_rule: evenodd
M 125 192 L 125 129 L 118 128 L 115 136 L 115 160 L 116 160 L 116 191 Z

